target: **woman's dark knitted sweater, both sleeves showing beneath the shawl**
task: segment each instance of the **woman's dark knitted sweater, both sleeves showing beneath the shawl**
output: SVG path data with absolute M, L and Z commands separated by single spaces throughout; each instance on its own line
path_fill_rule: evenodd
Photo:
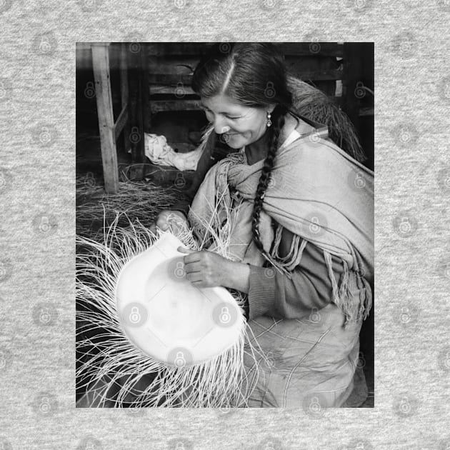
M 189 204 L 194 199 L 206 172 L 226 156 L 226 152 L 216 146 L 216 141 L 217 135 L 213 131 L 197 165 L 193 184 L 186 192 L 189 199 L 179 201 L 172 209 L 181 211 L 187 216 Z M 280 256 L 285 256 L 289 252 L 292 237 L 290 231 L 283 230 L 279 245 Z M 339 280 L 343 272 L 342 264 L 334 257 L 332 263 L 334 276 Z M 261 315 L 294 319 L 297 316 L 304 316 L 304 311 L 314 313 L 316 309 L 324 308 L 331 299 L 332 286 L 324 254 L 314 244 L 306 244 L 300 264 L 292 272 L 291 279 L 276 270 L 268 271 L 266 267 L 250 265 L 249 305 L 246 311 L 249 319 Z

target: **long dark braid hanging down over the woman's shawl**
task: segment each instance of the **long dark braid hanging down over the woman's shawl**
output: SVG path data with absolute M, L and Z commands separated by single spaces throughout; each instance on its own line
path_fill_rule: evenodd
M 264 159 L 264 166 L 261 169 L 261 176 L 259 177 L 258 187 L 256 188 L 256 196 L 254 199 L 253 216 L 251 220 L 251 231 L 253 232 L 253 239 L 256 248 L 261 251 L 263 256 L 269 260 L 269 254 L 264 249 L 259 236 L 259 216 L 263 206 L 264 194 L 266 193 L 267 185 L 269 184 L 271 170 L 274 167 L 274 160 L 276 151 L 278 149 L 278 139 L 280 131 L 284 126 L 284 115 L 287 109 L 284 106 L 278 105 L 273 112 L 273 129 L 271 130 L 271 142 L 266 159 Z

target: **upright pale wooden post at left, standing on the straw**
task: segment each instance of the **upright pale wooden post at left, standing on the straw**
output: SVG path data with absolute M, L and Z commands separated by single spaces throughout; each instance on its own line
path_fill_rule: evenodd
M 119 171 L 117 168 L 111 79 L 109 76 L 109 44 L 92 44 L 92 66 L 99 116 L 105 191 L 108 194 L 116 194 L 119 191 Z

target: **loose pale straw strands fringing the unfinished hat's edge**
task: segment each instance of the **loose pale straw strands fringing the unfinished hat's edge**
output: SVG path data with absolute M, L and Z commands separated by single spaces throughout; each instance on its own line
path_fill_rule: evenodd
M 105 227 L 103 242 L 83 236 L 76 239 L 86 251 L 76 261 L 77 349 L 81 354 L 77 389 L 88 391 L 89 406 L 245 406 L 257 379 L 246 378 L 244 354 L 257 364 L 259 351 L 246 339 L 249 327 L 244 314 L 238 342 L 214 359 L 183 368 L 154 361 L 124 334 L 114 299 L 116 281 L 124 265 L 159 237 L 139 221 L 128 219 L 127 226 L 120 227 L 124 216 L 116 214 Z M 176 236 L 184 245 L 201 249 L 186 226 L 177 224 L 177 229 Z M 244 306 L 241 293 L 231 294 Z

